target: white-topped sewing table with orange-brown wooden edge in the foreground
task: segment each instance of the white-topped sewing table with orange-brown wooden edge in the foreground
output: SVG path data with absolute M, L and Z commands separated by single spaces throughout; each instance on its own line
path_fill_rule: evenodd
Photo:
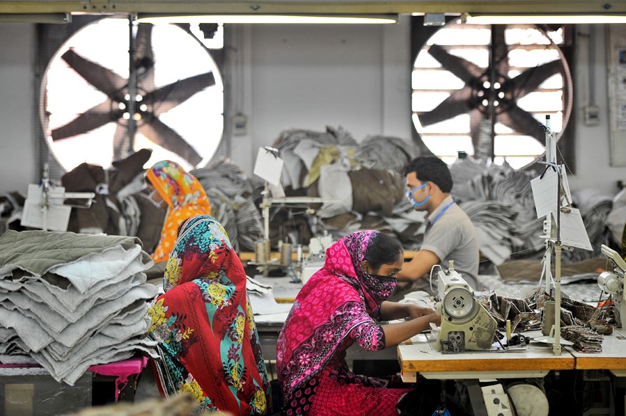
M 529 337 L 540 333 L 524 333 Z M 531 342 L 524 351 L 435 351 L 435 335 L 418 334 L 398 345 L 398 360 L 405 381 L 419 373 L 425 378 L 527 378 L 542 377 L 550 370 L 574 369 L 574 356 L 565 349 L 555 355 L 548 344 Z

